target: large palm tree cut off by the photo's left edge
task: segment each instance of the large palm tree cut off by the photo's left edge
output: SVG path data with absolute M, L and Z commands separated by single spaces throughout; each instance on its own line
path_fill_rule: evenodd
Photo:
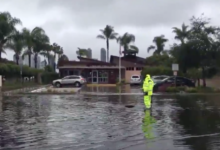
M 14 18 L 9 12 L 0 12 L 0 61 L 6 42 L 10 42 L 13 35 L 16 34 L 15 26 L 21 24 L 20 19 Z

